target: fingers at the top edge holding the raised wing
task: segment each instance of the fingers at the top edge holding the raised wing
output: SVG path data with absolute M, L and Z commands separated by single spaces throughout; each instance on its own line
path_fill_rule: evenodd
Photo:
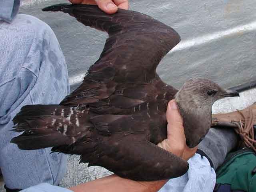
M 93 4 L 108 13 L 113 14 L 117 12 L 118 8 L 128 9 L 128 0 L 69 0 L 73 4 Z

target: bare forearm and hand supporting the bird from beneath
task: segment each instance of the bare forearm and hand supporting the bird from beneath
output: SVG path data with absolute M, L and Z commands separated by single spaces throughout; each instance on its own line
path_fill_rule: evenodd
M 192 157 L 197 147 L 188 148 L 184 135 L 182 117 L 180 116 L 174 100 L 168 103 L 167 113 L 167 139 L 158 146 L 188 160 Z M 146 173 L 145 173 L 146 174 Z M 157 192 L 168 180 L 152 182 L 134 181 L 121 178 L 115 174 L 104 178 L 96 179 L 70 188 L 74 192 Z

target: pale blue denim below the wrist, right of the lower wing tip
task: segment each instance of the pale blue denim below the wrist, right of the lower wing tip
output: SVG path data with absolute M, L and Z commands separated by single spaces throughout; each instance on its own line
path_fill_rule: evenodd
M 216 183 L 216 173 L 208 159 L 196 153 L 188 163 L 188 172 L 170 179 L 159 192 L 212 192 Z

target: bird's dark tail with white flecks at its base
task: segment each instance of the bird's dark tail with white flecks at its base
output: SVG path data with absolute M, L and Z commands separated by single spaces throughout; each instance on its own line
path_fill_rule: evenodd
M 70 146 L 90 133 L 88 109 L 62 105 L 27 105 L 14 117 L 14 131 L 23 132 L 10 142 L 23 150 Z

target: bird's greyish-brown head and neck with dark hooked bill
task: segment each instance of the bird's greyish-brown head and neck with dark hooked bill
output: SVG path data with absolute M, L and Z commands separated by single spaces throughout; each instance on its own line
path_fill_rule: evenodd
M 175 100 L 183 118 L 188 147 L 196 146 L 207 134 L 212 121 L 212 105 L 238 92 L 221 88 L 205 78 L 191 78 L 177 92 Z

